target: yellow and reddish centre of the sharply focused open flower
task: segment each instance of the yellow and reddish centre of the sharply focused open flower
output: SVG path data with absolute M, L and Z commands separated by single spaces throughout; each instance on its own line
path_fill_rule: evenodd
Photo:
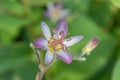
M 65 45 L 62 43 L 61 39 L 50 38 L 48 41 L 48 49 L 51 53 L 59 52 L 61 49 L 64 49 Z

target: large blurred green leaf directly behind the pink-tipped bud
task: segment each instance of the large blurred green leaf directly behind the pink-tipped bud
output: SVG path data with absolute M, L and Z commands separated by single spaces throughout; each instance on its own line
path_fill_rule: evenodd
M 87 56 L 86 61 L 74 61 L 70 65 L 61 61 L 61 67 L 59 67 L 59 70 L 57 70 L 57 73 L 54 75 L 55 79 L 59 78 L 63 80 L 65 76 L 61 76 L 61 73 L 67 75 L 68 73 L 66 70 L 70 70 L 79 74 L 75 75 L 75 77 L 72 76 L 74 79 L 88 80 L 88 78 L 94 76 L 107 64 L 114 49 L 115 40 L 110 35 L 103 32 L 95 22 L 82 14 L 80 17 L 78 16 L 75 20 L 69 23 L 69 32 L 70 36 L 83 35 L 85 37 L 80 43 L 71 47 L 70 52 L 72 55 L 80 53 L 81 48 L 95 36 L 99 36 L 100 43 L 98 47 L 92 51 L 91 55 Z M 64 80 L 70 79 L 69 77 L 71 77 L 71 74 L 67 75 Z

